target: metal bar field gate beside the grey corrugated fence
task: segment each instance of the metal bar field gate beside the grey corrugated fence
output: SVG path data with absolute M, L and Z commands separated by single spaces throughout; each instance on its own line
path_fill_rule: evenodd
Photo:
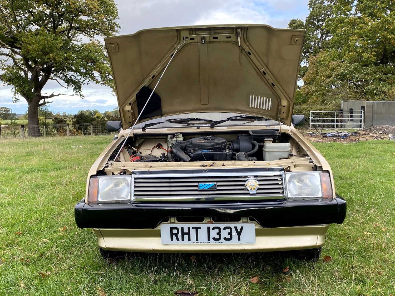
M 361 129 L 363 110 L 310 111 L 310 129 Z

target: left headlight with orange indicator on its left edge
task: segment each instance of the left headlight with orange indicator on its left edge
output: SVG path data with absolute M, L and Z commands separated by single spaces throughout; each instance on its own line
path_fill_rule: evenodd
M 128 202 L 132 176 L 98 176 L 90 178 L 88 202 Z

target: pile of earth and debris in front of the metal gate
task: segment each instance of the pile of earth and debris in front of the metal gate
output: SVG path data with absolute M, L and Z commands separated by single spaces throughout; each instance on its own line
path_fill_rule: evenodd
M 359 142 L 368 140 L 395 140 L 395 126 L 374 126 L 358 131 L 302 131 L 311 142 Z

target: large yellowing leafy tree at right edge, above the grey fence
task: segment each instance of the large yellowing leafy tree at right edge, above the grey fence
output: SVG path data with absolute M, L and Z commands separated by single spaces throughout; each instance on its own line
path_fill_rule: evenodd
M 395 2 L 336 1 L 326 49 L 308 60 L 303 89 L 315 100 L 395 99 Z

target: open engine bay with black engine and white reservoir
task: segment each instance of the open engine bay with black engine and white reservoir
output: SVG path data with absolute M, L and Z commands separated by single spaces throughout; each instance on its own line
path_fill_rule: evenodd
M 280 135 L 277 129 L 226 134 L 136 135 L 134 139 L 128 140 L 119 159 L 115 161 L 273 161 L 307 156 L 302 148 L 294 147 L 296 142 L 290 135 Z M 113 160 L 113 157 L 115 154 L 111 155 L 109 160 Z

